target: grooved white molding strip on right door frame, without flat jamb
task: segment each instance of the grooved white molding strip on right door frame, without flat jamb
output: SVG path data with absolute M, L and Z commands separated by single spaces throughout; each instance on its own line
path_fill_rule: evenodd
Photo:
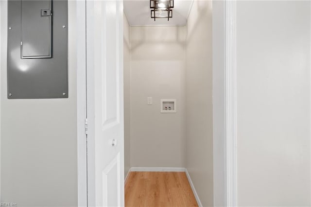
M 236 0 L 225 3 L 226 201 L 237 203 L 237 67 Z

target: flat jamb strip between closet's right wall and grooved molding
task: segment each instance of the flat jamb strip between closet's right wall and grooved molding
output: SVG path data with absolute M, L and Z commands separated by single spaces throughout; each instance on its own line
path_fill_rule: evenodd
M 214 207 L 226 205 L 225 1 L 213 0 L 213 194 Z

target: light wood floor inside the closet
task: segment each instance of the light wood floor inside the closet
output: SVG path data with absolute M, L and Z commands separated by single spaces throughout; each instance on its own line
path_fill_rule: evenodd
M 197 207 L 184 172 L 130 172 L 125 207 Z

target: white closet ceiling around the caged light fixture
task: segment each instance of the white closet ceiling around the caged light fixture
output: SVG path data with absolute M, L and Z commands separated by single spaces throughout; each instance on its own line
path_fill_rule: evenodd
M 150 0 L 124 0 L 124 13 L 130 26 L 183 26 L 187 23 L 187 17 L 193 0 L 174 0 L 173 18 L 150 17 Z

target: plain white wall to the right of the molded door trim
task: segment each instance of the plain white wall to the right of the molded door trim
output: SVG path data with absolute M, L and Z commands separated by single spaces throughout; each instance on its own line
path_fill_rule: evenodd
M 238 1 L 238 206 L 310 206 L 310 1 Z

